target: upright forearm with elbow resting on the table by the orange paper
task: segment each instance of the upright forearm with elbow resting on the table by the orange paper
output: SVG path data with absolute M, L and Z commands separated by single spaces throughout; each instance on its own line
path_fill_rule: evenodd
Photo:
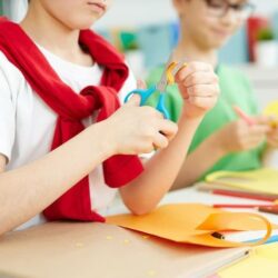
M 201 118 L 181 118 L 178 135 L 168 148 L 158 151 L 147 163 L 142 175 L 121 188 L 121 197 L 133 214 L 153 209 L 172 186 L 186 158 L 191 139 Z

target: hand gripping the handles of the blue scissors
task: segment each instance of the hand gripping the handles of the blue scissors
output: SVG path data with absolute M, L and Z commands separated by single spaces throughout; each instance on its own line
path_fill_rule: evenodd
M 107 138 L 118 155 L 140 155 L 155 148 L 166 148 L 178 131 L 178 126 L 151 107 L 139 107 L 139 96 L 107 119 Z

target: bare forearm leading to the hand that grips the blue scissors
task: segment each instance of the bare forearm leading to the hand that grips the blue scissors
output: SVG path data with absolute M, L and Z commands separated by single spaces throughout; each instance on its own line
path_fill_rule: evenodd
M 103 125 L 88 128 L 46 157 L 0 175 L 0 235 L 41 212 L 111 153 Z

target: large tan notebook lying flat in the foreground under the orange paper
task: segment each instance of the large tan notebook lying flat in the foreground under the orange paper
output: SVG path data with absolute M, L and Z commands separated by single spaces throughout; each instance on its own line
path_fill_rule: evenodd
M 108 224 L 51 222 L 2 237 L 0 274 L 32 278 L 199 278 L 247 257 L 249 250 L 175 244 Z

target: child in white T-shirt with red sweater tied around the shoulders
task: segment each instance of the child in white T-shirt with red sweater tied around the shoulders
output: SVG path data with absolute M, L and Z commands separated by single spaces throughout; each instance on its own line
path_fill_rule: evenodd
M 131 212 L 152 210 L 216 103 L 212 67 L 192 62 L 176 75 L 186 96 L 178 125 L 137 97 L 120 107 L 136 80 L 90 30 L 110 2 L 29 0 L 20 24 L 0 18 L 0 235 L 42 211 L 49 220 L 105 221 L 118 188 Z M 142 166 L 137 155 L 153 148 L 161 150 Z

